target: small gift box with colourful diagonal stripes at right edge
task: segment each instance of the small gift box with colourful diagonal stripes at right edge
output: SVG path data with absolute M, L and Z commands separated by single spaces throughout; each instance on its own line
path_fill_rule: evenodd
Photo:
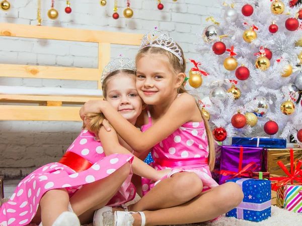
M 302 185 L 284 185 L 284 209 L 302 212 Z

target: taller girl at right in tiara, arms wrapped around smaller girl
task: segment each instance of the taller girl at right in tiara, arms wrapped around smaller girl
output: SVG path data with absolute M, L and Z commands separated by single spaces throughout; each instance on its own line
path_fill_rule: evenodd
M 141 131 L 106 101 L 85 103 L 81 118 L 85 120 L 89 112 L 103 112 L 133 150 L 141 153 L 152 148 L 152 167 L 171 168 L 172 172 L 158 181 L 142 178 L 144 196 L 128 208 L 134 212 L 113 209 L 112 225 L 203 222 L 235 208 L 243 199 L 241 188 L 232 182 L 218 186 L 211 177 L 213 137 L 198 103 L 184 88 L 186 64 L 182 49 L 167 34 L 154 29 L 141 40 L 136 68 L 136 88 L 147 104 L 137 122 Z

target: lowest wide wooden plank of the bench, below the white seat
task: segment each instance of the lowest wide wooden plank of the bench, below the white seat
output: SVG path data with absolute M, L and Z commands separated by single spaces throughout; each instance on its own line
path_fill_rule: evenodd
M 82 121 L 81 107 L 0 105 L 0 120 L 10 121 Z

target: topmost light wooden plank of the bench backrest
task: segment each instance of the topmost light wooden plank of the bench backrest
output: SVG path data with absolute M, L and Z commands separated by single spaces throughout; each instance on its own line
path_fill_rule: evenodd
M 22 38 L 53 39 L 78 42 L 140 45 L 143 35 L 121 32 L 91 31 L 48 26 L 0 23 L 0 35 Z

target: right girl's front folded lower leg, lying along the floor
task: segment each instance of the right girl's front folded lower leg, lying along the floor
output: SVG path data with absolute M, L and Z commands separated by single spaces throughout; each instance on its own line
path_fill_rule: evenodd
M 146 216 L 146 226 L 208 221 L 236 208 L 243 197 L 240 186 L 228 182 L 182 205 L 156 211 L 143 211 Z M 139 226 L 141 223 L 139 213 L 134 213 L 133 217 L 135 219 L 133 225 Z

